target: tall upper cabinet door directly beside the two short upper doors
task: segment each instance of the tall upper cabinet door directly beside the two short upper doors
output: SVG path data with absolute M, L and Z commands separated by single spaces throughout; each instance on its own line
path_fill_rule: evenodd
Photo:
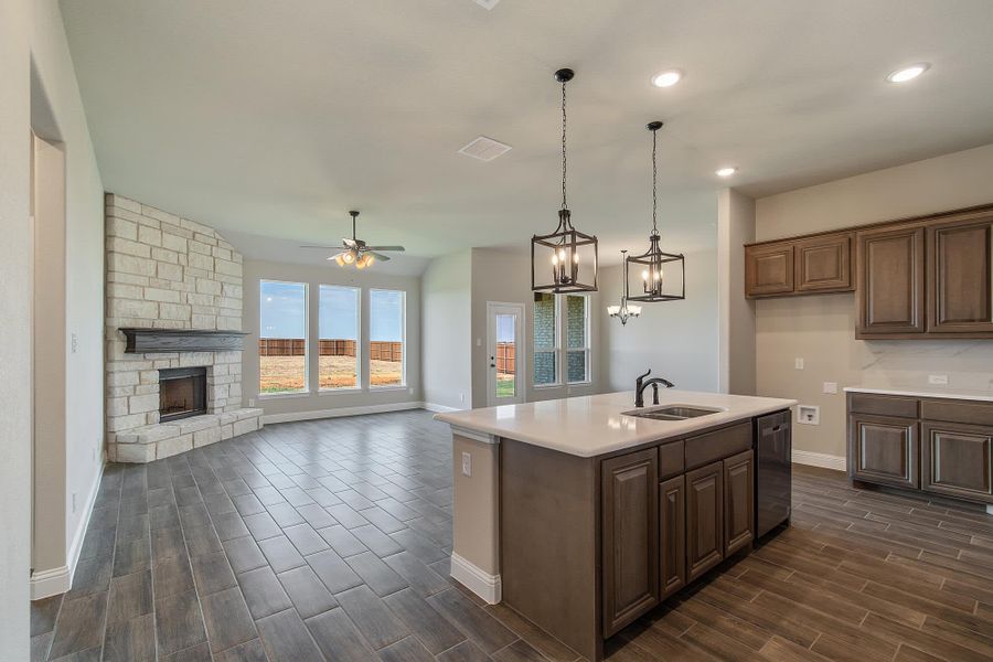
M 858 335 L 925 332 L 925 229 L 857 235 Z

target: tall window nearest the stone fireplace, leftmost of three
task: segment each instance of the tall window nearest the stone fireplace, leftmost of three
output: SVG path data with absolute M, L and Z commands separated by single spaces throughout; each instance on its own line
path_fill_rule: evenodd
M 258 392 L 307 391 L 307 285 L 259 282 Z

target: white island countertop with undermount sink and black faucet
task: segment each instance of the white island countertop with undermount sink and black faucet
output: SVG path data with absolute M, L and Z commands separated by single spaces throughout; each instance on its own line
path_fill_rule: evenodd
M 652 391 L 644 393 L 645 408 L 654 407 Z M 569 455 L 589 458 L 659 439 L 685 437 L 695 430 L 786 409 L 793 399 L 696 393 L 661 388 L 659 406 L 690 405 L 720 412 L 685 420 L 653 420 L 626 416 L 634 409 L 634 393 L 607 393 L 523 405 L 502 405 L 437 414 L 435 418 L 458 433 L 469 430 Z

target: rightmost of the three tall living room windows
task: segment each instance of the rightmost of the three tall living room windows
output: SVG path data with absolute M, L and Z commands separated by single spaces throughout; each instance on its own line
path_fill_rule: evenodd
M 369 291 L 369 384 L 403 386 L 406 295 L 393 290 Z

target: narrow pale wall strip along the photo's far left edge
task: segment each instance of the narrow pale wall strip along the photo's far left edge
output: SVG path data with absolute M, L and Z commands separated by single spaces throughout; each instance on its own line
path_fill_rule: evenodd
M 0 651 L 28 659 L 30 568 L 30 0 L 0 2 Z

